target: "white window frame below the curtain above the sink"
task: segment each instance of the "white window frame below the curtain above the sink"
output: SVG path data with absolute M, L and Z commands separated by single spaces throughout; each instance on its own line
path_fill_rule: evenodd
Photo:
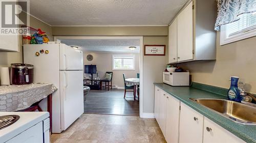
M 220 45 L 226 45 L 232 42 L 237 42 L 240 40 L 244 40 L 247 38 L 251 38 L 256 36 L 256 28 L 252 29 L 252 30 L 245 30 L 245 31 L 241 31 L 236 35 L 227 37 L 227 29 L 226 29 L 227 25 L 221 25 L 221 30 L 220 30 Z

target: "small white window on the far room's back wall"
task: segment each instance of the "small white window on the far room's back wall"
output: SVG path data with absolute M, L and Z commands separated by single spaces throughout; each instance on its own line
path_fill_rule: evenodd
M 135 55 L 114 55 L 113 54 L 113 70 L 135 70 Z

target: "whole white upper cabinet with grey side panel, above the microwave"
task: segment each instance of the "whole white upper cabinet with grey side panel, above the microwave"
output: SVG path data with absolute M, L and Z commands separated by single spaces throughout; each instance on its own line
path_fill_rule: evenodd
M 169 26 L 169 63 L 216 60 L 215 1 L 193 0 Z

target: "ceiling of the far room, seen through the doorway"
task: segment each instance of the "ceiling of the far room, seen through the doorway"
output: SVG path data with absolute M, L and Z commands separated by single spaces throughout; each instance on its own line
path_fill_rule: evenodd
M 61 43 L 69 46 L 78 46 L 82 51 L 95 52 L 133 52 L 139 53 L 140 40 L 83 40 L 83 39 L 60 39 Z M 136 46 L 135 50 L 130 50 L 129 46 Z

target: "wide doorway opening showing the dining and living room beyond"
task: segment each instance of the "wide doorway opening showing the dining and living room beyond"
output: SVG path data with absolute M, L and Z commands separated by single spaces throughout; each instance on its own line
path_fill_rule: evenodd
M 84 113 L 142 114 L 143 37 L 57 36 L 54 40 L 83 51 Z

